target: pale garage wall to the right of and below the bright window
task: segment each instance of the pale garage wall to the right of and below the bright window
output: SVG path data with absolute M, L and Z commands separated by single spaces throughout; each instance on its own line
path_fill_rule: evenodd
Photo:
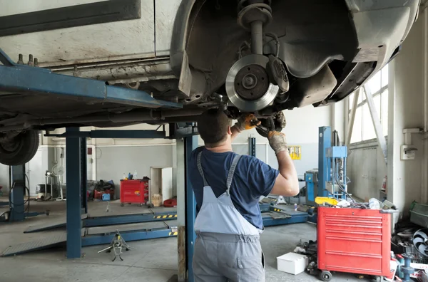
M 420 11 L 402 51 L 389 63 L 387 165 L 374 142 L 350 146 L 347 175 L 350 192 L 361 199 L 379 198 L 387 175 L 389 201 L 408 213 L 413 201 L 428 202 L 427 133 L 412 135 L 416 160 L 401 160 L 403 130 L 421 128 L 427 132 L 428 12 Z

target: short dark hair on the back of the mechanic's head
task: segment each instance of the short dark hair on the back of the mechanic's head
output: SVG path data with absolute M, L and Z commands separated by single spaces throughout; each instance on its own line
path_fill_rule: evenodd
M 228 134 L 229 118 L 223 110 L 206 110 L 198 119 L 198 131 L 205 145 L 216 145 Z

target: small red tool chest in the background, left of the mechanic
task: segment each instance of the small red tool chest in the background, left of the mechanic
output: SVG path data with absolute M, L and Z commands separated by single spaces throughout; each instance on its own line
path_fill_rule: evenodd
M 121 180 L 121 206 L 148 202 L 148 179 Z

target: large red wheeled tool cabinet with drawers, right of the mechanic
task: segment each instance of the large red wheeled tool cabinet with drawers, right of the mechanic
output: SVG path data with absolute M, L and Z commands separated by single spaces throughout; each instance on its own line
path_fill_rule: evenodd
M 330 281 L 339 271 L 377 276 L 391 274 L 391 214 L 378 209 L 318 207 L 318 268 Z

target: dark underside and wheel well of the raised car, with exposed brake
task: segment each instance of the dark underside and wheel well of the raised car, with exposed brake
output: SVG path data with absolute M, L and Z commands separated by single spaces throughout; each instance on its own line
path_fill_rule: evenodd
M 181 109 L 11 90 L 0 82 L 0 162 L 31 159 L 16 157 L 16 144 L 35 140 L 28 136 L 32 130 L 195 122 L 208 108 L 230 118 L 255 113 L 263 127 L 281 130 L 282 110 L 336 103 L 396 56 L 419 7 L 419 1 L 404 0 L 179 2 L 168 54 L 29 58 L 28 64 L 141 90 Z M 0 48 L 11 36 L 0 37 Z M 25 63 L 19 56 L 18 64 Z

